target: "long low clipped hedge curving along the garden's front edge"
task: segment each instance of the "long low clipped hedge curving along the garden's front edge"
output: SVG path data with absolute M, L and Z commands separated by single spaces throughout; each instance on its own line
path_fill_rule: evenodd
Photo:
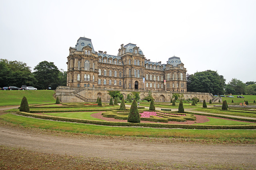
M 50 119 L 56 121 L 68 121 L 76 123 L 105 125 L 105 126 L 129 126 L 129 127 L 153 127 L 153 128 L 181 128 L 181 129 L 256 129 L 256 125 L 180 125 L 180 124 L 162 124 L 162 123 L 126 123 L 126 122 L 110 122 L 96 121 L 85 119 L 70 119 L 66 117 L 58 117 L 51 115 L 40 115 L 34 113 L 26 113 L 22 111 L 16 112 L 19 115 L 36 117 L 41 119 Z

